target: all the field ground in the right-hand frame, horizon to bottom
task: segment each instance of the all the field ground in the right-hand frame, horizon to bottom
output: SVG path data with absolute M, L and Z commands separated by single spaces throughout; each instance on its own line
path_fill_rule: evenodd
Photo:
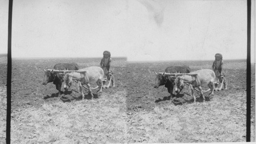
M 154 71 L 170 65 L 188 65 L 191 71 L 208 68 L 212 61 L 128 63 L 127 111 L 134 137 L 131 142 L 235 142 L 246 140 L 246 61 L 225 61 L 228 89 L 205 94 L 197 103 L 188 88 L 171 98 L 164 86 L 154 88 Z M 252 66 L 251 141 L 255 141 L 255 66 Z M 208 89 L 204 87 L 204 89 Z

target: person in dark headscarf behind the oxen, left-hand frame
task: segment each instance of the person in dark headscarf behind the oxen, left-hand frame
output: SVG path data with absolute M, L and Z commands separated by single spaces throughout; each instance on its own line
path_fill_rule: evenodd
M 112 80 L 111 80 L 112 87 L 115 87 L 115 81 L 114 81 L 114 77 L 113 77 L 113 69 L 111 66 L 111 62 L 112 62 L 112 59 L 111 59 L 110 52 L 104 51 L 103 58 L 100 61 L 100 67 L 103 69 L 104 74 L 108 80 L 110 80 L 110 78 L 112 77 Z M 103 84 L 105 85 L 104 82 L 103 82 Z

